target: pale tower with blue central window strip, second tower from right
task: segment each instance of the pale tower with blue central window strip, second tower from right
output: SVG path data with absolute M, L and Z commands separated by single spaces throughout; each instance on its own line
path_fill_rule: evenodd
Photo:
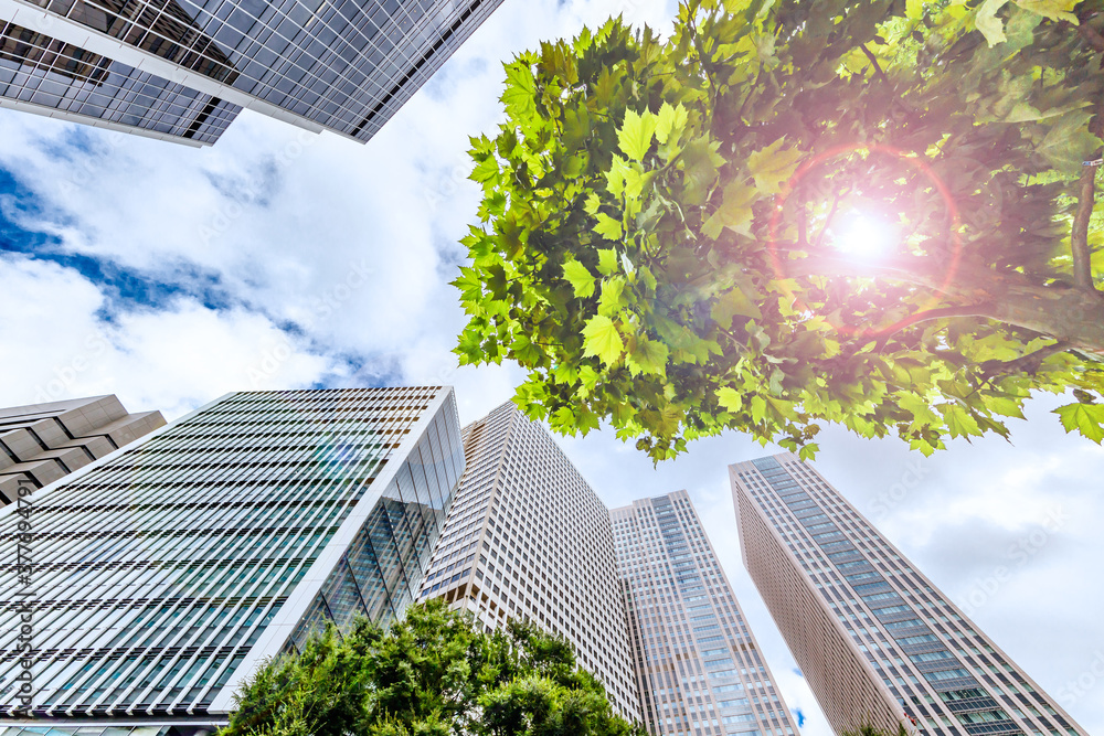
M 794 736 L 686 491 L 611 512 L 645 724 L 656 736 Z

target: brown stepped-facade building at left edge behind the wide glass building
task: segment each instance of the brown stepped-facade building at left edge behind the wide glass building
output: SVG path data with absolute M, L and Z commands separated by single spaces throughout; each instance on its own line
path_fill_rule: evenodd
M 0 409 L 0 508 L 164 425 L 128 414 L 115 395 Z

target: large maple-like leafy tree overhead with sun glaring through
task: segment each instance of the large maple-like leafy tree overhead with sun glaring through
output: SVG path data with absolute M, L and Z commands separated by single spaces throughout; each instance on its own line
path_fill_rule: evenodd
M 724 428 L 810 457 L 824 422 L 931 454 L 1039 391 L 1101 441 L 1100 8 L 688 0 L 521 54 L 457 354 L 656 461 Z

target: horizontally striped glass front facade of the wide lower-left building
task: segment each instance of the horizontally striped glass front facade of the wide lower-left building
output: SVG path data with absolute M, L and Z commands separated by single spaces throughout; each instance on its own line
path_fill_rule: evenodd
M 384 466 L 425 465 L 392 455 L 442 391 L 233 394 L 32 497 L 32 713 L 205 713 Z M 450 391 L 431 430 L 458 477 Z M 425 489 L 428 518 L 450 488 Z M 21 672 L 13 510 L 0 511 L 0 690 Z

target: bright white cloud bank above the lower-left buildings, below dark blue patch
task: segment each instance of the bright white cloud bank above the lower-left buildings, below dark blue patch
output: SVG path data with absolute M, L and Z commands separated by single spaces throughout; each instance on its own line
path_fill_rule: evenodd
M 104 319 L 104 298 L 73 269 L 6 257 L 0 271 L 3 405 L 117 394 L 130 410 L 173 418 L 231 391 L 309 385 L 342 366 L 267 318 L 181 298 Z

